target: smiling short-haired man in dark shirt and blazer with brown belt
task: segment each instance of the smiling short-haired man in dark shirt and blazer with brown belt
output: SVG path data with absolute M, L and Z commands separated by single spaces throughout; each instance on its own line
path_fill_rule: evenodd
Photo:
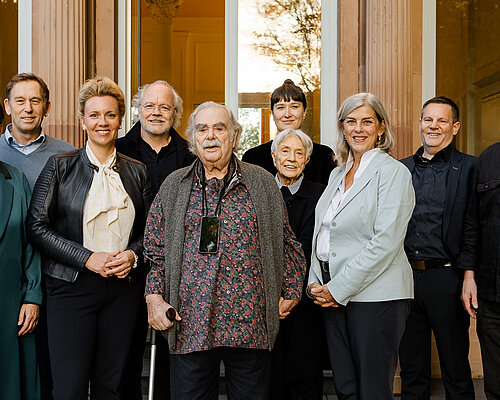
M 456 266 L 476 158 L 453 145 L 459 129 L 458 107 L 451 99 L 428 100 L 420 115 L 423 146 L 402 160 L 416 196 L 405 239 L 415 298 L 399 353 L 403 400 L 430 398 L 431 330 L 446 398 L 474 399 L 470 320 L 460 301 L 463 273 Z

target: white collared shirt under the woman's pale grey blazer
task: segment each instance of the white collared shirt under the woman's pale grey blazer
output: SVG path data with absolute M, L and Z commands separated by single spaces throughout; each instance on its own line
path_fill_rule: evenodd
M 344 201 L 347 194 L 356 183 L 356 180 L 363 174 L 370 162 L 373 160 L 373 157 L 375 157 L 375 154 L 377 154 L 379 151 L 382 150 L 374 148 L 363 153 L 358 170 L 354 174 L 352 185 L 349 189 L 345 190 L 345 177 L 354 165 L 354 157 L 352 156 L 351 152 L 349 153 L 349 158 L 347 159 L 347 163 L 345 166 L 344 176 L 342 177 L 339 187 L 333 195 L 330 206 L 326 210 L 325 217 L 323 218 L 323 222 L 321 223 L 321 227 L 319 228 L 316 241 L 316 257 L 318 258 L 318 260 L 328 262 L 330 254 L 330 224 L 333 216 L 342 204 L 342 201 Z

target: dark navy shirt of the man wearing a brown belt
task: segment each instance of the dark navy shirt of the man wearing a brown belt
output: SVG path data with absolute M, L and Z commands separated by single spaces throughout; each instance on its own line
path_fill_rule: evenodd
M 412 173 L 416 204 L 408 224 L 405 251 L 409 260 L 448 261 L 443 242 L 443 213 L 446 183 L 453 144 L 437 152 L 431 160 L 423 157 L 423 147 L 415 153 Z

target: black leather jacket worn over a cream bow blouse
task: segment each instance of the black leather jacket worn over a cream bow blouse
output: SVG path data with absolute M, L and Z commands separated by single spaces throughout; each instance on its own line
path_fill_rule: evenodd
M 50 157 L 35 184 L 27 233 L 44 256 L 43 272 L 51 277 L 74 282 L 92 254 L 82 245 L 83 208 L 97 168 L 83 147 Z M 145 275 L 142 241 L 153 187 L 146 166 L 139 161 L 117 153 L 113 168 L 134 203 L 135 220 L 128 248 L 140 260 L 131 276 L 141 279 Z

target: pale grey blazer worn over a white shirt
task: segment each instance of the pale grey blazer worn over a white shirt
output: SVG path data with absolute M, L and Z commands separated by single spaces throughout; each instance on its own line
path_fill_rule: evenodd
M 413 298 L 413 277 L 404 252 L 415 206 L 411 174 L 379 151 L 335 212 L 330 226 L 330 282 L 323 282 L 316 244 L 319 228 L 345 173 L 335 168 L 316 206 L 309 282 L 326 283 L 335 300 L 369 302 Z

